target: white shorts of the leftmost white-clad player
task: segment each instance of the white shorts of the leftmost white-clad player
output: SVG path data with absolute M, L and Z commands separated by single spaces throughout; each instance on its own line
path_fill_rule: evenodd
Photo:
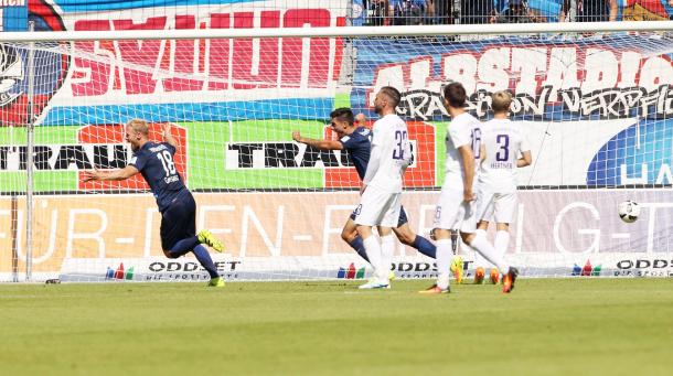
M 355 208 L 355 224 L 364 226 L 397 227 L 402 193 L 385 192 L 375 186 L 367 189 Z

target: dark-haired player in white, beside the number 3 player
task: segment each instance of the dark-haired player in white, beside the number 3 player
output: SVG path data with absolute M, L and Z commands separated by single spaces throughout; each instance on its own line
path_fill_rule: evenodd
M 473 181 L 476 159 L 479 159 L 481 123 L 464 110 L 467 94 L 460 83 L 444 87 L 444 106 L 451 116 L 446 137 L 446 174 L 435 212 L 435 237 L 437 238 L 437 283 L 421 293 L 447 293 L 449 289 L 449 264 L 451 260 L 451 228 L 460 229 L 462 240 L 477 249 L 500 270 L 506 270 L 503 292 L 514 288 L 519 271 L 505 264 L 495 248 L 483 235 L 474 234 L 477 227 Z

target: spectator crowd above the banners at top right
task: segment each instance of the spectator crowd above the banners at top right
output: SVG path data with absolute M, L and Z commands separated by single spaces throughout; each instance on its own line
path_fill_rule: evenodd
M 673 19 L 673 0 L 354 0 L 354 6 L 362 9 L 364 25 Z

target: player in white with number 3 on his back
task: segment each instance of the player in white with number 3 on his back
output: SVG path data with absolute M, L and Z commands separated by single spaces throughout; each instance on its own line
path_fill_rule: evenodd
M 531 164 L 531 148 L 515 122 L 509 119 L 512 95 L 496 92 L 492 96 L 493 119 L 483 123 L 481 163 L 478 183 L 479 207 L 477 234 L 485 237 L 489 221 L 495 219 L 496 233 L 493 246 L 504 256 L 510 243 L 510 224 L 514 222 L 516 198 L 516 168 Z M 521 155 L 521 157 L 520 157 Z M 474 283 L 484 279 L 483 258 L 474 257 Z M 500 273 L 491 269 L 491 282 L 498 283 Z

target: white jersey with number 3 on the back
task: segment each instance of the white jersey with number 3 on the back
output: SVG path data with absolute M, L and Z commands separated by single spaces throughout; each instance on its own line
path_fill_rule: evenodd
M 494 193 L 516 191 L 516 160 L 530 151 L 528 141 L 516 122 L 493 119 L 482 126 L 487 158 L 481 163 L 479 184 Z

